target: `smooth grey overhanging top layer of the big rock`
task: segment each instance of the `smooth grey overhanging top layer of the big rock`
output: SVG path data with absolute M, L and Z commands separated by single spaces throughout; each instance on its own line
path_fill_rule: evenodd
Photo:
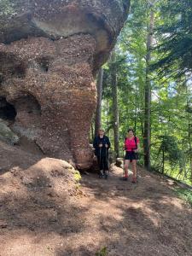
M 9 0 L 9 11 L 0 12 L 0 42 L 10 44 L 27 37 L 52 40 L 74 34 L 90 34 L 96 39 L 94 71 L 108 59 L 129 0 Z M 7 14 L 7 15 L 6 15 Z

